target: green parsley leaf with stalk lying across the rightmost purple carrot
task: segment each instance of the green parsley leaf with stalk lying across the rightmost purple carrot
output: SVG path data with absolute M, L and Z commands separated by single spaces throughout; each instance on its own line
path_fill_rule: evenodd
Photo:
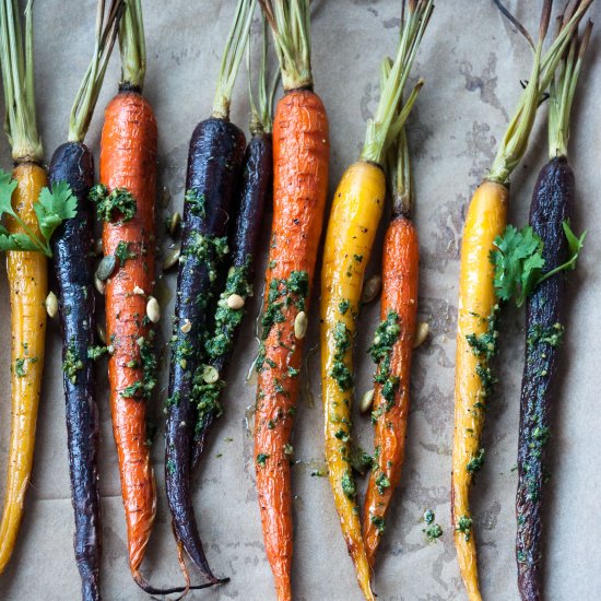
M 495 250 L 491 251 L 491 262 L 495 268 L 495 293 L 498 298 L 509 300 L 515 298 L 521 307 L 534 288 L 547 278 L 559 271 L 576 269 L 576 261 L 585 245 L 587 233 L 580 237 L 571 231 L 569 223 L 562 223 L 566 236 L 568 260 L 555 269 L 542 273 L 545 266 L 543 259 L 543 241 L 532 227 L 517 229 L 508 225 L 502 236 L 495 238 Z

